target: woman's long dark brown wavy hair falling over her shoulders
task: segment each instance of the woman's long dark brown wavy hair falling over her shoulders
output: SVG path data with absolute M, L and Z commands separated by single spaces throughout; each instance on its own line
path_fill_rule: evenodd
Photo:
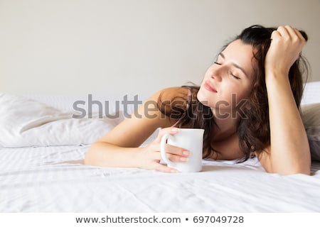
M 241 40 L 245 44 L 252 45 L 253 56 L 257 65 L 253 65 L 254 79 L 253 88 L 250 93 L 245 110 L 245 118 L 240 118 L 237 126 L 237 133 L 239 136 L 240 149 L 244 157 L 238 162 L 244 162 L 252 156 L 252 152 L 256 150 L 263 150 L 267 145 L 270 145 L 270 123 L 269 123 L 269 106 L 267 99 L 267 87 L 265 84 L 265 56 L 269 50 L 271 42 L 272 31 L 277 28 L 265 28 L 263 26 L 255 25 L 245 28 L 240 35 L 237 35 L 232 41 L 223 46 L 223 51 L 234 40 Z M 308 37 L 304 31 L 300 31 L 304 38 Z M 304 89 L 303 75 L 307 78 L 308 62 L 300 55 L 289 70 L 289 82 L 291 84 L 294 100 L 297 108 L 300 107 L 302 99 L 302 92 Z M 203 158 L 215 158 L 218 151 L 212 147 L 213 128 L 218 127 L 215 124 L 214 116 L 210 107 L 204 106 L 196 98 L 198 86 L 188 86 L 188 92 L 177 94 L 177 100 L 184 100 L 184 104 L 180 101 L 176 103 L 171 100 L 170 106 L 166 101 L 158 99 L 159 110 L 171 118 L 178 119 L 178 126 L 183 127 L 188 125 L 192 128 L 204 128 L 203 138 Z

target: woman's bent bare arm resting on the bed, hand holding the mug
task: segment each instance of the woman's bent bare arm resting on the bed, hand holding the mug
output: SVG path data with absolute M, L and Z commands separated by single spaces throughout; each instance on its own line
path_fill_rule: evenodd
M 166 96 L 176 93 L 177 89 L 171 88 L 161 91 Z M 160 140 L 165 133 L 178 133 L 178 128 L 168 128 L 175 121 L 164 116 L 156 106 L 161 92 L 151 96 L 144 104 L 139 106 L 137 113 L 131 118 L 119 123 L 112 131 L 104 135 L 91 145 L 85 155 L 85 165 L 98 165 L 105 167 L 139 167 L 147 170 L 162 172 L 176 172 L 176 170 L 161 165 L 159 153 Z M 139 148 L 157 128 L 163 128 L 158 137 L 145 148 Z M 169 159 L 174 162 L 186 161 L 182 148 L 167 146 Z M 184 159 L 183 159 L 184 158 Z

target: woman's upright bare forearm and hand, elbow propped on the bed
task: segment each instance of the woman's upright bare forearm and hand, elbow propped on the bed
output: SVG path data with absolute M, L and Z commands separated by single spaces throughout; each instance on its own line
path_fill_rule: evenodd
M 306 40 L 290 26 L 272 33 L 265 60 L 269 102 L 270 146 L 258 157 L 267 172 L 310 174 L 311 157 L 306 131 L 289 83 L 289 69 Z

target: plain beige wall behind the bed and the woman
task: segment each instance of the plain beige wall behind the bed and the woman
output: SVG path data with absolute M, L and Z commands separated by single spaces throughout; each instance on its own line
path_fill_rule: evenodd
M 319 0 L 0 0 L 0 92 L 149 96 L 200 83 L 256 23 L 304 29 L 309 81 L 320 80 Z

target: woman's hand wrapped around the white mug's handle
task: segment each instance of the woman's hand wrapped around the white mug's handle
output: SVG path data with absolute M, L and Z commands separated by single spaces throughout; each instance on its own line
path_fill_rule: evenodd
M 160 163 L 161 153 L 160 153 L 160 143 L 161 138 L 165 134 L 169 133 L 170 135 L 175 135 L 178 133 L 178 128 L 162 128 L 159 131 L 157 138 L 142 149 L 142 152 L 138 154 L 139 158 L 139 167 L 146 170 L 158 170 L 161 172 L 178 172 L 174 168 L 167 167 Z M 178 148 L 173 145 L 166 145 L 166 153 L 172 162 L 187 162 L 188 155 L 190 152 L 183 148 Z

